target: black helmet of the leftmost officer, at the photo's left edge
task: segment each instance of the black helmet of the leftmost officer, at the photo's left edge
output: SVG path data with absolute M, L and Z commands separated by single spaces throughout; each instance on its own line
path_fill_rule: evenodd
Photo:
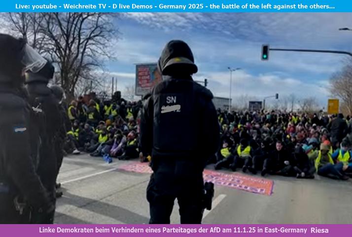
M 25 40 L 0 34 L 0 82 L 21 80 Z

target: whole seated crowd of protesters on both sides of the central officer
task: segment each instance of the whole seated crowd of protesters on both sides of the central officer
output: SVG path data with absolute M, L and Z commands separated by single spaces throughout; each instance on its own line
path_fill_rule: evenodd
M 89 153 L 118 159 L 150 156 L 139 152 L 139 111 L 142 102 L 124 99 L 101 102 L 82 97 L 68 106 L 67 153 Z M 209 163 L 215 169 L 262 176 L 314 178 L 315 174 L 346 180 L 352 174 L 352 119 L 342 114 L 231 112 L 218 110 L 219 150 Z M 186 136 L 187 134 L 185 134 Z

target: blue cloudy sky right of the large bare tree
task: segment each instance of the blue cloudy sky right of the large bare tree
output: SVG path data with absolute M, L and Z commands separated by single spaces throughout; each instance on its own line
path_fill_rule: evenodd
M 341 69 L 345 56 L 337 54 L 271 51 L 260 60 L 261 45 L 271 47 L 352 51 L 350 13 L 124 13 L 116 21 L 117 60 L 107 63 L 118 78 L 118 89 L 134 84 L 135 63 L 156 62 L 167 41 L 186 41 L 193 50 L 199 72 L 194 79 L 209 79 L 215 96 L 229 96 L 228 67 L 233 74 L 233 99 L 252 99 L 294 93 L 314 96 L 325 106 L 330 76 Z

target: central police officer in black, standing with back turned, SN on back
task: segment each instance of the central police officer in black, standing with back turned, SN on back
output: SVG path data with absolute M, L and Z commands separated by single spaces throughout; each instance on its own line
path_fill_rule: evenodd
M 189 46 L 172 40 L 158 62 L 163 81 L 144 101 L 141 149 L 151 154 L 154 173 L 147 187 L 150 224 L 168 224 L 177 198 L 181 224 L 201 223 L 203 170 L 219 144 L 219 124 L 210 90 L 197 73 Z

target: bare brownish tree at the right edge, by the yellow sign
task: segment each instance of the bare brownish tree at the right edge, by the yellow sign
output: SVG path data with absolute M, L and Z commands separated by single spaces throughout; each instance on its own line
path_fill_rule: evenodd
M 330 78 L 330 93 L 342 100 L 342 110 L 352 114 L 352 60 Z

